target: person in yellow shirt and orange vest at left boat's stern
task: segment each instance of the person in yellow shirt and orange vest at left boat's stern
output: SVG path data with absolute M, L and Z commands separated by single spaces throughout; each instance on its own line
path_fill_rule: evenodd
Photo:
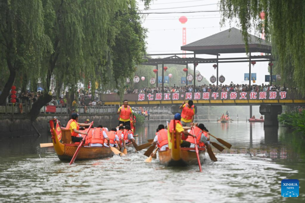
M 78 123 L 78 114 L 72 113 L 71 115 L 72 119 L 68 121 L 66 129 L 71 130 L 71 139 L 72 142 L 81 142 L 82 137 L 80 134 L 87 134 L 87 132 L 81 132 L 79 131 L 79 126 L 90 126 L 90 123 Z

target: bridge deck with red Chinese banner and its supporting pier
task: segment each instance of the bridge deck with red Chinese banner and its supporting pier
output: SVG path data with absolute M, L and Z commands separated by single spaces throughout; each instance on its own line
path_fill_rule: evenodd
M 184 100 L 192 99 L 195 106 L 260 106 L 265 116 L 265 126 L 278 125 L 277 117 L 282 113 L 283 105 L 305 106 L 305 98 L 296 92 L 185 92 L 185 93 L 146 93 L 124 94 L 133 107 L 170 106 L 172 113 L 180 112 L 179 106 Z M 117 94 L 103 94 L 101 100 L 105 106 L 121 105 Z

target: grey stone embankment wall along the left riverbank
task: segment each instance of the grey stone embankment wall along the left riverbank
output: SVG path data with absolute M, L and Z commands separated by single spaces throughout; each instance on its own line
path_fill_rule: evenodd
M 57 119 L 62 124 L 67 124 L 70 120 L 69 114 L 44 114 L 37 117 L 32 125 L 31 119 L 26 115 L 14 115 L 12 117 L 12 115 L 2 114 L 0 115 L 0 137 L 13 138 L 40 134 L 49 129 L 49 120 L 53 116 L 57 116 Z M 114 113 L 103 115 L 81 114 L 79 122 L 83 123 L 86 119 L 89 119 L 90 121 L 94 121 L 95 126 L 102 124 L 110 128 L 118 125 L 117 118 L 118 116 Z

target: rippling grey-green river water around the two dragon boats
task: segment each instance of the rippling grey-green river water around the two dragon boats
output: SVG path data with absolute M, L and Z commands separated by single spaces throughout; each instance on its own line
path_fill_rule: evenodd
M 159 123 L 138 126 L 138 144 L 153 139 Z M 304 202 L 305 141 L 285 127 L 263 123 L 204 123 L 233 145 L 218 162 L 171 168 L 144 152 L 102 160 L 61 162 L 46 132 L 0 140 L 0 202 Z M 110 126 L 109 126 L 110 127 Z M 0 135 L 1 136 L 1 135 Z M 282 197 L 281 181 L 299 180 L 299 197 Z

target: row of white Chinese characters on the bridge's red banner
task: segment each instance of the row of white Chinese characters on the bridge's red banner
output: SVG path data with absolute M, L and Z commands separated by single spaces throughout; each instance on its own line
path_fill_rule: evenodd
M 186 92 L 138 94 L 138 101 L 144 100 L 242 100 L 242 99 L 286 99 L 287 92 Z

